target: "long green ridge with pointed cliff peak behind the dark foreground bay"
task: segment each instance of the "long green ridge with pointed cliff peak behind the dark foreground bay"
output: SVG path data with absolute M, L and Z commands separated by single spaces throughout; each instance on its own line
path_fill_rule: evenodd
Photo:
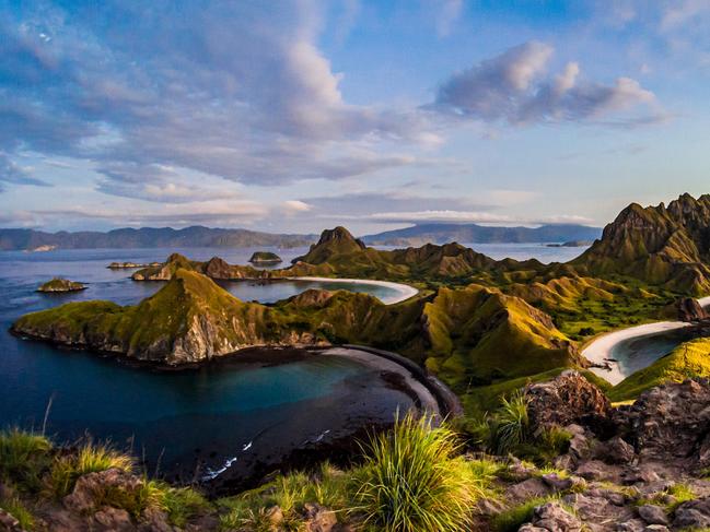
M 177 269 L 139 305 L 70 303 L 12 330 L 59 345 L 179 365 L 253 345 L 358 343 L 395 350 L 452 385 L 522 377 L 580 362 L 549 316 L 484 286 L 440 288 L 398 305 L 366 294 L 307 291 L 267 306 Z

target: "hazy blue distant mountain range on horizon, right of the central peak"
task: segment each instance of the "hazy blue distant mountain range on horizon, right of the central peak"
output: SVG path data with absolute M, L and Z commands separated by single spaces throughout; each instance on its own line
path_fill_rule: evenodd
M 421 224 L 362 237 L 371 246 L 422 246 L 424 244 L 524 244 L 595 240 L 600 227 L 543 225 L 540 227 L 491 227 L 476 224 Z

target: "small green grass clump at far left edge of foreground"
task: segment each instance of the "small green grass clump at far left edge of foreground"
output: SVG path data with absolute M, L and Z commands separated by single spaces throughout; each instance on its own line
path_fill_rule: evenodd
M 11 428 L 0 433 L 0 481 L 24 490 L 40 486 L 43 471 L 51 461 L 51 442 L 44 436 Z

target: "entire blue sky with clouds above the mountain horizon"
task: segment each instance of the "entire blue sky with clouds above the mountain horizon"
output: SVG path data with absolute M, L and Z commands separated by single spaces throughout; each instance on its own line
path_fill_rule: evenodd
M 710 0 L 0 0 L 0 226 L 602 226 L 710 192 Z

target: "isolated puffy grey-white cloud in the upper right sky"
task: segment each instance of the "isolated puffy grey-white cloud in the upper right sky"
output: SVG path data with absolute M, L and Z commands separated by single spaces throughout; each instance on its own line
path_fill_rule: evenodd
M 529 42 L 481 61 L 446 80 L 430 108 L 459 118 L 511 125 L 601 121 L 609 114 L 638 109 L 639 115 L 619 118 L 618 123 L 663 118 L 653 93 L 630 78 L 618 78 L 612 85 L 581 82 L 577 62 L 549 76 L 554 51 L 549 45 Z

